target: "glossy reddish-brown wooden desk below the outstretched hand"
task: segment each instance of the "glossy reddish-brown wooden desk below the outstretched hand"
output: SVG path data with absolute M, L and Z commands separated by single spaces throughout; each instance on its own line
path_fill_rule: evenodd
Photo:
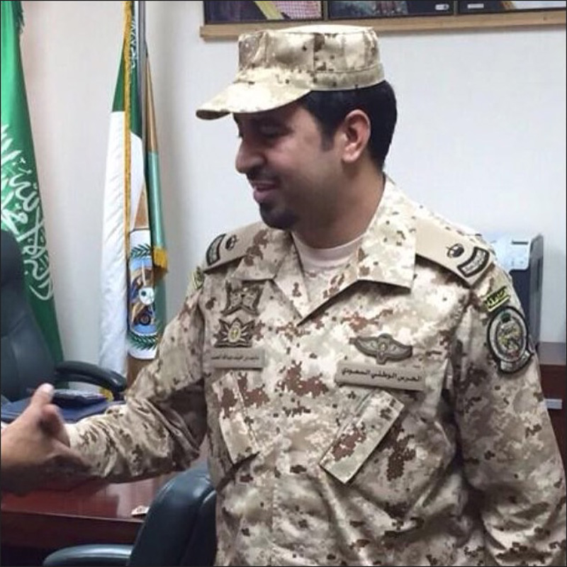
M 38 564 L 52 550 L 78 544 L 132 544 L 143 517 L 136 506 L 149 506 L 172 475 L 123 484 L 88 481 L 71 490 L 38 490 L 23 497 L 5 494 L 1 505 L 2 564 L 26 553 Z M 16 554 L 17 555 L 17 554 Z M 35 557 L 38 558 L 35 559 Z

